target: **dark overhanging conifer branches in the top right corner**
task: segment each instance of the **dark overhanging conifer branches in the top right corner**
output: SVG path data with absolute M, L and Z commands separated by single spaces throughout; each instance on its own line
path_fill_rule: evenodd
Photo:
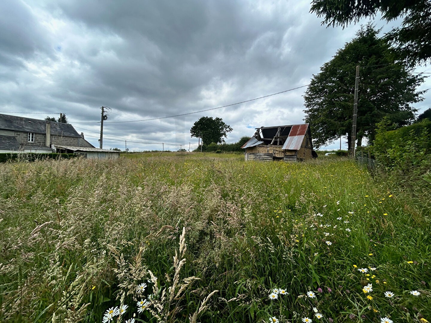
M 322 25 L 343 27 L 378 12 L 388 22 L 403 17 L 401 27 L 385 36 L 395 52 L 410 67 L 431 59 L 430 0 L 313 0 L 310 12 L 324 17 Z

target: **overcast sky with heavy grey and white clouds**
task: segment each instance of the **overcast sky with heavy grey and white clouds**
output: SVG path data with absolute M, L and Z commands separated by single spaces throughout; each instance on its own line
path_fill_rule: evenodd
M 302 123 L 306 87 L 166 117 L 309 84 L 359 29 L 322 26 L 309 2 L 1 0 L 0 113 L 65 113 L 99 147 L 100 107 L 108 106 L 103 148 L 124 149 L 127 140 L 131 151 L 194 149 L 190 128 L 202 116 L 234 129 L 228 143 L 255 127 Z M 397 24 L 374 22 L 383 31 Z

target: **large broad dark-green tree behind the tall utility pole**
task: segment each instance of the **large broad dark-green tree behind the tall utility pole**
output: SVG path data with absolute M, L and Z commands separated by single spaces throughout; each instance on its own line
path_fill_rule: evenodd
M 313 75 L 304 95 L 306 117 L 312 127 L 315 147 L 348 135 L 352 129 L 356 65 L 359 65 L 359 93 L 356 138 L 374 139 L 375 124 L 384 116 L 397 127 L 410 124 L 417 111 L 411 103 L 423 100 L 416 91 L 424 80 L 412 75 L 389 53 L 390 46 L 378 37 L 372 24 L 362 26 L 356 37 L 337 51 L 331 61 Z

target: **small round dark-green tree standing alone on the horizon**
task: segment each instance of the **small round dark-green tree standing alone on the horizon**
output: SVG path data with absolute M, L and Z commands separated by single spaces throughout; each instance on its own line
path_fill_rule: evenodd
M 223 137 L 233 129 L 225 124 L 222 118 L 202 117 L 190 129 L 191 137 L 201 137 L 205 145 L 210 143 L 224 143 Z

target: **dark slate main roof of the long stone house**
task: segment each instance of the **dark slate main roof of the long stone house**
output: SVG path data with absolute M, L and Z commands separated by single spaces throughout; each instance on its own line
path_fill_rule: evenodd
M 72 124 L 52 121 L 50 124 L 51 135 L 53 136 L 81 137 Z M 47 121 L 0 114 L 0 129 L 45 134 L 47 130 Z

